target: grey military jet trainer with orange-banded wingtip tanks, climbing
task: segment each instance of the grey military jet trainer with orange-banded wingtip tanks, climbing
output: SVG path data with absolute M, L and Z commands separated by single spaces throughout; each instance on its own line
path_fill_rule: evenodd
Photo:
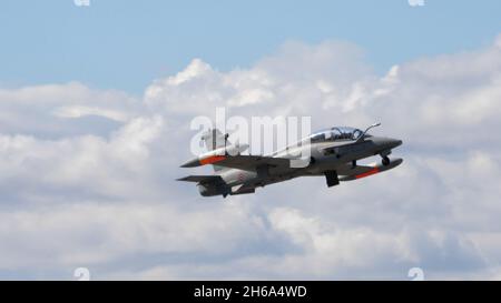
M 196 182 L 203 196 L 254 193 L 256 188 L 283 182 L 297 176 L 324 176 L 327 186 L 340 181 L 352 181 L 396 168 L 402 159 L 390 159 L 392 149 L 402 144 L 401 140 L 374 137 L 367 131 L 354 128 L 331 128 L 315 132 L 296 144 L 271 155 L 242 154 L 248 145 L 228 142 L 228 134 L 214 129 L 202 137 L 208 152 L 183 164 L 195 168 L 206 164 L 214 166 L 212 175 L 188 175 L 178 181 Z M 305 153 L 308 152 L 308 153 Z M 307 159 L 301 155 L 310 154 Z M 357 160 L 380 155 L 381 162 L 358 165 Z M 297 165 L 293 161 L 306 161 Z M 298 168 L 299 166 L 299 168 Z

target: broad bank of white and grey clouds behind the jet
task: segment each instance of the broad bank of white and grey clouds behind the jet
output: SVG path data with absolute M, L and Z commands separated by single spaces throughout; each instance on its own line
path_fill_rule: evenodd
M 249 69 L 200 59 L 143 97 L 82 83 L 0 89 L 0 277 L 499 279 L 501 39 L 377 75 L 346 42 L 285 43 Z M 400 138 L 394 171 L 204 199 L 190 120 L 311 115 Z M 209 170 L 200 170 L 207 173 Z

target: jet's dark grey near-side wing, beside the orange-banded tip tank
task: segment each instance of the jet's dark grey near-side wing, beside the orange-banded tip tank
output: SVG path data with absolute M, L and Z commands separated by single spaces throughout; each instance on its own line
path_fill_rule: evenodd
M 238 154 L 238 155 L 227 155 L 218 159 L 217 165 L 253 171 L 259 166 L 271 166 L 271 168 L 279 168 L 279 169 L 289 169 L 291 160 L 285 158 L 272 158 L 272 156 L 263 156 L 263 155 L 248 155 L 248 154 Z

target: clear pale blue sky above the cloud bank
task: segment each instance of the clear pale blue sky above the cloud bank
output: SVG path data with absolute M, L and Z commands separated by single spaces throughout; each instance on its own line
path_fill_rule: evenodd
M 141 94 L 193 58 L 247 68 L 287 40 L 358 44 L 376 72 L 423 55 L 475 49 L 501 30 L 501 2 L 2 1 L 0 84 L 81 81 Z

